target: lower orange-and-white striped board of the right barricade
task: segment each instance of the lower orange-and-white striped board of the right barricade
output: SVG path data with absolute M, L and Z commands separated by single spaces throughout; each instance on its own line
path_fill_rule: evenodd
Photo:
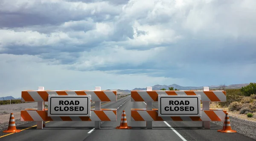
M 227 111 L 202 110 L 200 116 L 158 116 L 154 110 L 131 110 L 131 121 L 224 121 Z

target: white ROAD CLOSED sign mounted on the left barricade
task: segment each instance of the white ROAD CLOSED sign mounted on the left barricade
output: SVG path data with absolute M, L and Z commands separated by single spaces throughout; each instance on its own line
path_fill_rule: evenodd
M 48 116 L 90 116 L 90 95 L 48 96 Z

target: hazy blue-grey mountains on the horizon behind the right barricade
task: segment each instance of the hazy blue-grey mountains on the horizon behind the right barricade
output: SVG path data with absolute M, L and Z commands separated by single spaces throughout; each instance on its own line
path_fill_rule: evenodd
M 226 89 L 240 89 L 241 87 L 247 86 L 249 85 L 249 83 L 245 83 L 245 84 L 233 84 L 233 85 L 227 85 Z M 177 84 L 172 84 L 172 85 L 154 85 L 152 86 L 153 90 L 160 90 L 162 88 L 165 88 L 166 90 L 168 90 L 168 87 L 173 87 L 174 89 L 178 89 L 178 90 L 203 90 L 203 86 L 201 87 L 183 87 Z M 220 86 L 216 86 L 216 85 L 211 85 L 211 86 L 206 86 L 209 87 L 210 89 L 215 89 L 218 90 L 218 88 Z M 146 90 L 147 88 L 134 88 L 133 90 Z M 131 90 L 117 90 L 117 93 L 120 94 L 125 94 L 125 93 L 131 93 Z

